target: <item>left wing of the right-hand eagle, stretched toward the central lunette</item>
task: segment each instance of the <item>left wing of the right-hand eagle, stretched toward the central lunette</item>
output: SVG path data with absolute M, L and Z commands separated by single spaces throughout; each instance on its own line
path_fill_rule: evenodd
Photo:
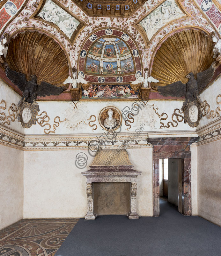
M 186 84 L 181 81 L 166 86 L 157 86 L 157 89 L 163 96 L 182 97 L 186 94 Z

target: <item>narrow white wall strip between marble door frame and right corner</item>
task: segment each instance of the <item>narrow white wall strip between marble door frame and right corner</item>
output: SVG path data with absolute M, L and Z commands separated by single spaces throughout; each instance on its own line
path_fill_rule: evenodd
M 191 150 L 191 200 L 192 200 L 192 215 L 197 215 L 197 147 L 190 146 Z

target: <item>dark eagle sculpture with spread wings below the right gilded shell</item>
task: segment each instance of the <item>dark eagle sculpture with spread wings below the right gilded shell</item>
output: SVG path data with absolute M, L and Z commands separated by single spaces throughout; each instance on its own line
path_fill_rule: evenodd
M 168 84 L 166 86 L 156 86 L 158 92 L 163 96 L 173 96 L 173 97 L 183 97 L 185 96 L 185 101 L 183 102 L 183 108 L 191 101 L 197 100 L 199 92 L 206 87 L 214 75 L 215 69 L 217 67 L 217 61 L 213 61 L 210 67 L 200 73 L 197 73 L 197 78 L 195 79 L 194 74 L 190 72 L 186 77 L 189 79 L 186 84 L 181 81 L 175 82 L 173 84 Z

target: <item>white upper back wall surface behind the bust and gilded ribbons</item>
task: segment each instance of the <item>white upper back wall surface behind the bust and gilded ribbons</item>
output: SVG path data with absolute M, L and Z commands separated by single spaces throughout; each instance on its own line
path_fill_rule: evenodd
M 125 113 L 127 116 L 129 111 L 131 111 L 134 116 L 134 123 L 129 123 L 131 125 L 131 128 L 129 130 L 126 130 L 129 128 L 129 126 L 126 126 L 124 121 L 126 120 L 123 115 L 122 120 L 122 127 L 120 129 L 117 129 L 116 132 L 136 132 L 137 128 L 144 123 L 144 125 L 141 128 L 141 131 L 143 132 L 168 132 L 168 131 L 195 131 L 195 128 L 191 128 L 188 124 L 184 124 L 184 122 L 179 122 L 177 127 L 173 127 L 170 124 L 169 129 L 168 128 L 160 128 L 160 118 L 153 110 L 153 107 L 155 109 L 158 108 L 158 113 L 161 115 L 163 112 L 165 112 L 168 115 L 167 120 L 163 120 L 164 124 L 166 125 L 169 121 L 172 121 L 171 116 L 173 114 L 173 111 L 175 108 L 181 108 L 183 100 L 149 100 L 147 105 L 144 107 L 144 105 L 141 104 L 141 101 L 79 101 L 77 102 L 77 108 L 74 106 L 74 104 L 70 101 L 38 101 L 40 111 L 38 112 L 41 114 L 41 112 L 46 111 L 47 115 L 50 118 L 50 121 L 48 124 L 51 125 L 51 131 L 53 131 L 53 124 L 54 124 L 54 118 L 56 116 L 59 116 L 61 121 L 65 120 L 63 123 L 59 124 L 59 127 L 56 128 L 55 134 L 97 134 L 97 133 L 103 133 L 102 127 L 99 125 L 98 117 L 100 111 L 107 107 L 107 106 L 114 106 L 120 110 L 120 112 Z M 137 107 L 138 104 L 139 107 Z M 154 106 L 152 106 L 154 105 Z M 163 117 L 166 117 L 166 114 L 164 114 Z M 41 116 L 43 116 L 42 114 Z M 92 130 L 95 128 L 95 126 L 90 127 L 89 126 L 89 118 L 91 115 L 96 116 L 96 121 L 91 123 L 91 125 L 96 124 L 97 129 Z M 38 118 L 39 116 L 37 116 Z M 83 121 L 82 121 L 83 119 Z M 176 117 L 174 117 L 176 120 Z M 45 119 L 48 120 L 48 119 Z M 91 118 L 91 120 L 95 120 L 94 117 Z M 132 121 L 132 120 L 131 120 Z M 45 124 L 45 123 L 44 123 Z M 78 125 L 77 125 L 78 124 Z M 175 123 L 173 123 L 175 124 Z M 75 127 L 76 128 L 73 128 Z M 25 129 L 25 134 L 32 135 L 37 134 L 41 135 L 44 134 L 44 129 L 48 128 L 49 126 L 41 127 L 39 124 L 32 125 L 29 129 Z M 48 132 L 48 131 L 46 131 Z M 50 133 L 53 134 L 53 133 Z

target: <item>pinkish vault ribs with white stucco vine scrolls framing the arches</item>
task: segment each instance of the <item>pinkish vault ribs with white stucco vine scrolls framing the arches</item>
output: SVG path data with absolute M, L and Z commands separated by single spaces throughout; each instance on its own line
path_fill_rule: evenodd
M 98 18 L 98 17 L 87 17 L 86 14 L 81 11 L 75 4 L 69 1 L 61 1 L 63 7 L 78 16 L 86 26 L 79 31 L 76 39 L 76 44 L 72 46 L 72 43 L 59 31 L 59 29 L 53 27 L 51 24 L 46 24 L 40 20 L 33 19 L 33 13 L 36 11 L 39 1 L 31 0 L 27 3 L 26 7 L 21 13 L 11 22 L 11 24 L 5 29 L 5 32 L 9 32 L 10 35 L 17 33 L 16 31 L 22 29 L 38 29 L 42 30 L 58 40 L 67 55 L 69 56 L 70 64 L 72 67 L 77 64 L 77 56 L 79 55 L 80 45 L 85 40 L 86 36 L 92 33 L 95 29 L 101 27 L 119 27 L 125 32 L 134 35 L 136 42 L 142 54 L 142 60 L 144 67 L 148 67 L 151 62 L 151 56 L 157 43 L 164 38 L 167 34 L 171 33 L 174 29 L 183 28 L 186 26 L 196 26 L 205 28 L 211 32 L 214 30 L 213 24 L 208 22 L 198 8 L 193 4 L 192 1 L 186 0 L 181 2 L 181 7 L 184 8 L 190 15 L 185 15 L 178 20 L 172 21 L 167 25 L 160 28 L 155 36 L 151 38 L 148 45 L 145 44 L 143 34 L 140 29 L 136 28 L 135 23 L 138 19 L 142 19 L 151 12 L 151 9 L 157 7 L 157 0 L 148 0 L 141 8 L 139 8 L 130 18 Z

